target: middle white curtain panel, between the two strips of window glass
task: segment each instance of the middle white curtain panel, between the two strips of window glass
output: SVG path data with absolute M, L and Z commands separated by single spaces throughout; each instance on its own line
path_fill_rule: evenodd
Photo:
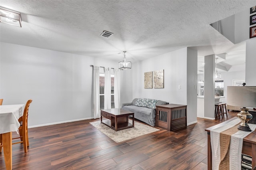
M 110 69 L 104 68 L 105 87 L 104 87 L 104 109 L 111 109 L 111 75 Z

